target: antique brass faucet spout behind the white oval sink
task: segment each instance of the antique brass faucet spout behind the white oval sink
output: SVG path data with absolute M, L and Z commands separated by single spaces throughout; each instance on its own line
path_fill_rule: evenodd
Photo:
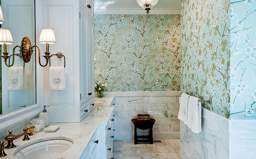
M 30 131 L 27 131 L 27 130 L 28 130 L 28 128 L 24 128 L 23 129 L 24 133 L 19 134 L 19 135 L 13 135 L 12 130 L 8 131 L 9 135 L 5 137 L 5 140 L 8 141 L 8 144 L 5 148 L 6 149 L 11 149 L 11 148 L 15 147 L 16 145 L 13 144 L 13 140 L 18 139 L 19 137 L 21 137 L 23 135 L 25 135 L 23 140 L 29 140 L 28 135 L 31 136 L 33 134 Z

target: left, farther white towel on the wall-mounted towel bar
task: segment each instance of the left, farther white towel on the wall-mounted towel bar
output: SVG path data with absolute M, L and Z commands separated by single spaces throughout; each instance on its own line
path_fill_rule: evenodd
M 190 95 L 185 93 L 182 93 L 180 97 L 178 119 L 184 121 L 185 124 L 187 124 L 187 107 L 188 107 L 189 97 Z

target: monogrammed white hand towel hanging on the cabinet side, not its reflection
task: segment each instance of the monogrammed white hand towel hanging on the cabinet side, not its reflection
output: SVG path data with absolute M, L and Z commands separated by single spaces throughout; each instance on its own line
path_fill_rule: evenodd
M 50 67 L 50 90 L 66 89 L 65 68 L 63 66 Z

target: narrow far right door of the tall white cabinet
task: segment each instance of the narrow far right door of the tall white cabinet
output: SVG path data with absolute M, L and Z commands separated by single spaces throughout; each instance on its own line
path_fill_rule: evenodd
M 94 94 L 94 24 L 92 22 L 88 22 L 88 44 L 89 44 L 89 93 L 92 95 L 89 96 L 91 99 L 92 97 L 95 96 Z

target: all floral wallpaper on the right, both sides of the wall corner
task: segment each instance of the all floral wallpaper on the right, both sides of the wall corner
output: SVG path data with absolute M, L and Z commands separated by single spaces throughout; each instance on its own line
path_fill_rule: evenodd
M 182 0 L 181 91 L 226 118 L 256 119 L 255 17 L 254 0 Z

